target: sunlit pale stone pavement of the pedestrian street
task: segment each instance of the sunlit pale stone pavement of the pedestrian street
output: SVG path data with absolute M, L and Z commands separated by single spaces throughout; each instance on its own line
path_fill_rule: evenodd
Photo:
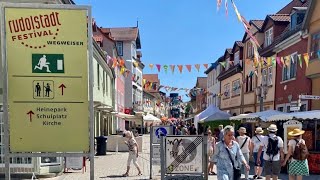
M 142 176 L 137 176 L 138 171 L 136 168 L 131 165 L 130 176 L 122 177 L 122 174 L 126 171 L 127 157 L 128 153 L 107 153 L 106 156 L 96 156 L 94 159 L 95 164 L 95 178 L 96 180 L 104 179 L 149 179 L 149 156 L 150 156 L 150 145 L 149 145 L 150 136 L 143 136 L 143 151 L 139 154 L 138 163 L 142 168 Z M 86 172 L 70 170 L 68 173 L 64 173 L 61 176 L 54 178 L 47 178 L 47 180 L 88 180 L 90 172 L 90 162 L 86 163 Z M 153 179 L 160 179 L 160 167 L 153 166 Z M 251 166 L 251 175 L 249 178 L 252 178 L 253 166 Z M 243 176 L 244 177 L 244 176 Z M 217 176 L 209 176 L 209 180 L 216 180 Z M 280 175 L 281 180 L 287 180 L 287 174 Z M 309 177 L 304 177 L 304 180 L 320 180 L 320 175 L 312 175 Z

